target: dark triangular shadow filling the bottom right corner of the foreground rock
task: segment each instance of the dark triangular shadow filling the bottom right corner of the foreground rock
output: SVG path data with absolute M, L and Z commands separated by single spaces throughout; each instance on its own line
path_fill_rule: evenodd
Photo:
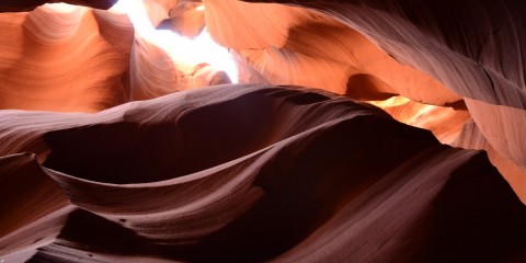
M 427 228 L 411 262 L 526 262 L 526 207 L 485 153 L 451 174 Z

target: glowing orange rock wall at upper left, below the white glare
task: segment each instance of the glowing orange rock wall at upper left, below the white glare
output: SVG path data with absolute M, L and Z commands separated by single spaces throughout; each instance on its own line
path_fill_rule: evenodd
M 55 3 L 0 13 L 0 108 L 98 112 L 231 82 L 225 71 L 179 61 L 134 34 L 117 11 Z

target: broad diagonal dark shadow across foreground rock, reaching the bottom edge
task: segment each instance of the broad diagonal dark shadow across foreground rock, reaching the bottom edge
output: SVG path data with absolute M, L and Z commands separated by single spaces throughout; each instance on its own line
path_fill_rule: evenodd
M 167 256 L 190 262 L 268 261 L 298 244 L 404 159 L 435 144 L 426 132 L 395 122 L 375 117 L 342 122 L 278 152 L 258 175 L 255 185 L 265 194 L 250 210 L 199 243 Z

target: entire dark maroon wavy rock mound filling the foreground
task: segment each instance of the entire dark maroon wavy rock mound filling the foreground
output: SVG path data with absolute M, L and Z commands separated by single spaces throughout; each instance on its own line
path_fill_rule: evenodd
M 324 91 L 229 84 L 0 116 L 16 122 L 0 123 L 0 180 L 18 187 L 2 195 L 19 199 L 0 199 L 2 221 L 24 218 L 1 225 L 2 259 L 526 259 L 526 207 L 485 152 Z

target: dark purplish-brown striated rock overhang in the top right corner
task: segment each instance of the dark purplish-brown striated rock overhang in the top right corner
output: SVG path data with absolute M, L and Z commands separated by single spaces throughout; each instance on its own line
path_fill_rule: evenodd
M 524 1 L 278 2 L 336 19 L 465 98 L 526 108 Z

